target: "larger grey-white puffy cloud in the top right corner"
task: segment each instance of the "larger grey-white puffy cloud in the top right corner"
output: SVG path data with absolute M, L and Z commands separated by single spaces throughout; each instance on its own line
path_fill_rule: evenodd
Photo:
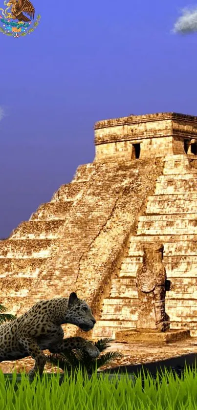
M 194 33 L 197 32 L 197 6 L 193 9 L 184 8 L 174 25 L 174 33 Z

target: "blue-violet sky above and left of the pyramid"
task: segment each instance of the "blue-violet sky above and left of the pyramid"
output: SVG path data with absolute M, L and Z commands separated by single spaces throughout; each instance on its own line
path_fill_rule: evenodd
M 32 3 L 31 35 L 0 33 L 0 237 L 93 161 L 95 121 L 197 115 L 197 33 L 172 33 L 186 0 Z

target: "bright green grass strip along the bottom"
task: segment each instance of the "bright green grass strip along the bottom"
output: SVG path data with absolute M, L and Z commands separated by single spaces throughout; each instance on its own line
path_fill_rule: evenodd
M 45 374 L 39 375 L 29 383 L 22 372 L 22 381 L 14 389 L 16 370 L 13 381 L 5 383 L 0 370 L 0 409 L 2 410 L 192 410 L 197 409 L 197 367 L 187 366 L 181 379 L 173 376 L 172 371 L 146 376 L 144 369 L 135 376 L 134 382 L 128 375 L 114 380 L 105 379 L 96 371 L 88 379 L 82 370 L 72 371 L 59 386 L 61 373 L 46 380 Z M 142 387 L 144 379 L 144 388 Z

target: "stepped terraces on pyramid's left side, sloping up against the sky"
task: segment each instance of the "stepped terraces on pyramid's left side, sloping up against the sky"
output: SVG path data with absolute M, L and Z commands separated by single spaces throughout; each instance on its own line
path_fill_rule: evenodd
M 0 241 L 0 303 L 12 314 L 18 316 L 26 310 L 21 301 L 28 301 L 29 308 L 44 299 L 45 292 L 34 289 L 34 283 L 60 246 L 63 228 L 93 172 L 92 164 L 79 166 L 72 182 L 62 185 L 50 202 L 41 204 L 28 221 Z

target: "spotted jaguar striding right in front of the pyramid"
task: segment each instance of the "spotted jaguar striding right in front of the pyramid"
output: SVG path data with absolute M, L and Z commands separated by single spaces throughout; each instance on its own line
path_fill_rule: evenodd
M 64 349 L 84 348 L 90 357 L 99 356 L 96 346 L 81 337 L 63 339 L 61 324 L 75 324 L 85 332 L 96 323 L 88 304 L 72 292 L 69 299 L 55 298 L 37 302 L 13 322 L 0 325 L 0 362 L 31 356 L 35 366 L 29 376 L 42 375 L 46 358 L 42 350 L 60 353 Z

